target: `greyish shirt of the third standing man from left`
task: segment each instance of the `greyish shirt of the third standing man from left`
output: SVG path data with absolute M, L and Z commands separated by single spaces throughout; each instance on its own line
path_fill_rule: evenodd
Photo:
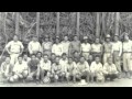
M 47 54 L 48 56 L 51 56 L 52 53 L 52 42 L 43 42 L 42 43 L 42 48 L 43 48 L 43 53 Z

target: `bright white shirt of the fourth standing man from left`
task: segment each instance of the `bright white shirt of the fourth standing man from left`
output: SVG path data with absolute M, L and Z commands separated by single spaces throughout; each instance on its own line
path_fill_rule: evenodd
M 52 53 L 54 53 L 57 56 L 62 56 L 62 54 L 63 54 L 63 46 L 62 46 L 62 44 L 54 44 L 52 46 Z

